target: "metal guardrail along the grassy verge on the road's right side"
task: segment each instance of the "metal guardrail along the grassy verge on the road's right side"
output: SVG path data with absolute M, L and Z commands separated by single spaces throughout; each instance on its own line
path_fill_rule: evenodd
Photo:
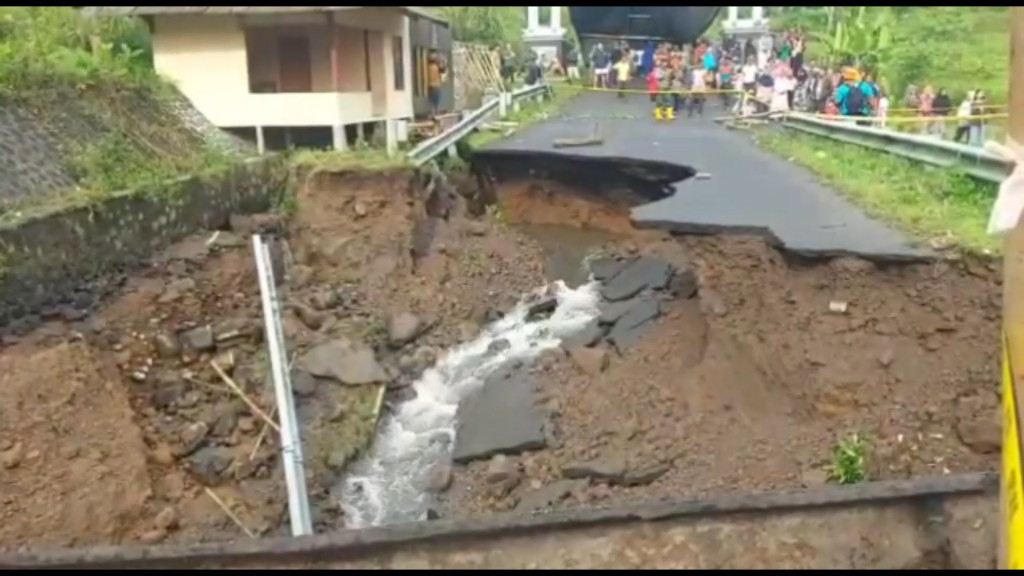
M 1012 169 L 1005 159 L 982 148 L 919 134 L 858 126 L 844 120 L 823 120 L 797 113 L 786 115 L 782 125 L 808 134 L 948 168 L 988 182 L 1001 182 Z

